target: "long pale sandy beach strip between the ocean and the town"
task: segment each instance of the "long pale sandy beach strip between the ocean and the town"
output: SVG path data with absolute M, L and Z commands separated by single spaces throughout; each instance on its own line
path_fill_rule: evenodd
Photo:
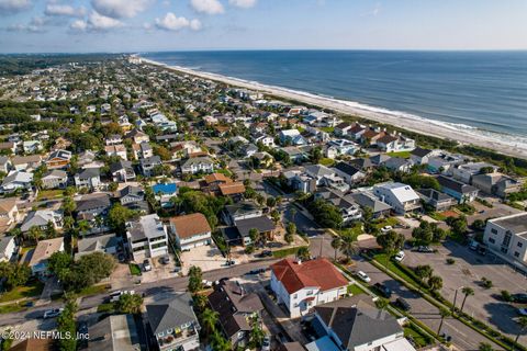
M 351 117 L 358 116 L 366 120 L 371 120 L 373 122 L 393 125 L 403 129 L 407 129 L 410 132 L 442 139 L 451 139 L 462 145 L 474 145 L 504 155 L 527 159 L 527 144 L 524 144 L 522 141 L 515 141 L 514 135 L 504 135 L 505 137 L 509 138 L 509 141 L 507 143 L 497 138 L 497 133 L 493 136 L 492 132 L 487 132 L 489 135 L 485 135 L 482 134 L 481 131 L 480 133 L 476 133 L 476 131 L 479 131 L 476 128 L 460 129 L 456 128 L 455 125 L 449 125 L 440 121 L 428 120 L 396 111 L 392 112 L 382 107 L 361 105 L 360 103 L 352 101 L 325 98 L 309 92 L 294 91 L 287 88 L 246 81 L 243 79 L 226 77 L 217 73 L 203 72 L 180 66 L 169 66 L 167 64 L 158 63 L 144 57 L 141 57 L 141 59 L 145 64 L 156 67 L 162 67 L 172 71 L 200 77 L 203 79 L 210 79 L 234 87 L 255 90 L 266 94 L 274 95 L 277 98 L 295 100 L 322 109 L 329 109 L 337 113 L 349 115 Z

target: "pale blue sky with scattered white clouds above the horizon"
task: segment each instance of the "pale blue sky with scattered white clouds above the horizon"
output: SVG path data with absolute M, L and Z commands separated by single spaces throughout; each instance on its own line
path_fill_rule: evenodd
M 526 0 L 0 0 L 0 53 L 527 49 Z

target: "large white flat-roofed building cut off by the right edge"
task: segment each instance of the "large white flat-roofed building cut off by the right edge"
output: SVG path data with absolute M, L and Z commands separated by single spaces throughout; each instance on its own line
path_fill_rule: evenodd
M 489 219 L 483 242 L 513 267 L 527 271 L 527 213 Z

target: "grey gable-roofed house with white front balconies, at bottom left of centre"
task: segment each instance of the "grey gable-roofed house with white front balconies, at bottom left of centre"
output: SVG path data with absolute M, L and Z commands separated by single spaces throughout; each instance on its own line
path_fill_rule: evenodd
M 160 351 L 200 349 L 200 324 L 192 304 L 189 293 L 177 292 L 146 305 L 148 327 Z

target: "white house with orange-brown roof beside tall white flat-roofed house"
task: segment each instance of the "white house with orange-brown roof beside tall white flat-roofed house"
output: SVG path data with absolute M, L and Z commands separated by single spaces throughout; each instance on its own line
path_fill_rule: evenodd
M 170 230 L 176 239 L 176 245 L 181 250 L 190 250 L 212 242 L 211 226 L 201 213 L 171 217 Z

